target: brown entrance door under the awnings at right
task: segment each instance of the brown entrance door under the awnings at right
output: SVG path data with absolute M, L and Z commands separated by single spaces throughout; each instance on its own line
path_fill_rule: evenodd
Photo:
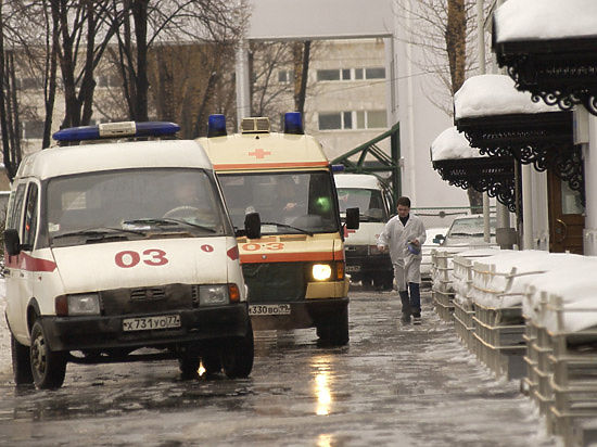
M 549 190 L 549 252 L 583 254 L 584 206 L 581 194 L 547 171 Z

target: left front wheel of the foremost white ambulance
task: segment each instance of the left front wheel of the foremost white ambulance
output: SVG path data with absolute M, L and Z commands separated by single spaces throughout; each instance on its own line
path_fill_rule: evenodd
M 50 348 L 39 320 L 36 320 L 31 329 L 29 359 L 35 386 L 40 389 L 55 389 L 62 386 L 66 374 L 66 353 Z

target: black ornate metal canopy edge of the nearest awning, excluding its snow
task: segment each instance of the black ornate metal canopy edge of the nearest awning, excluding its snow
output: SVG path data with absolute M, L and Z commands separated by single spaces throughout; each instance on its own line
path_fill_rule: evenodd
M 539 39 L 493 47 L 498 65 L 507 67 L 516 88 L 530 91 L 533 101 L 557 104 L 563 111 L 583 104 L 597 116 L 596 38 Z

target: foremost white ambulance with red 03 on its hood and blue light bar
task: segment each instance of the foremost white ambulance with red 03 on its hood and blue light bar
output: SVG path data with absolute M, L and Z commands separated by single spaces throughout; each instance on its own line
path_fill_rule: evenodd
M 17 385 L 60 387 L 69 361 L 152 357 L 178 359 L 187 376 L 201 361 L 211 373 L 250 374 L 237 240 L 209 159 L 194 141 L 173 139 L 178 129 L 63 129 L 62 146 L 21 163 L 4 231 Z M 145 141 L 101 141 L 138 137 Z

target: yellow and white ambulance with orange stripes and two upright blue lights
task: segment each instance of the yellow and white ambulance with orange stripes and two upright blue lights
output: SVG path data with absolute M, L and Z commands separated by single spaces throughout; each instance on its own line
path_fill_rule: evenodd
M 348 279 L 332 167 L 321 145 L 304 135 L 301 114 L 285 115 L 283 133 L 255 117 L 244 118 L 234 135 L 227 135 L 223 115 L 212 115 L 208 137 L 198 141 L 241 230 L 253 327 L 315 327 L 321 343 L 346 344 Z M 255 215 L 261 237 L 252 239 L 242 228 Z M 346 225 L 358 227 L 358 210 L 348 215 Z

